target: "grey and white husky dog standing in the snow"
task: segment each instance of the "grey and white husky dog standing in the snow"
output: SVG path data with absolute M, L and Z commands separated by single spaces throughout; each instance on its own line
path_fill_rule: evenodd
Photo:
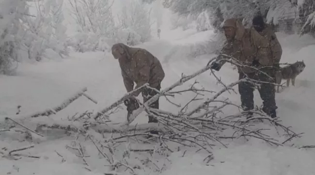
M 304 70 L 304 61 L 297 61 L 294 64 L 290 64 L 284 67 L 280 67 L 280 71 L 276 72 L 276 83 L 281 84 L 281 80 L 286 80 L 286 86 L 290 84 L 295 85 L 295 78 Z M 279 93 L 279 86 L 277 86 L 277 93 Z

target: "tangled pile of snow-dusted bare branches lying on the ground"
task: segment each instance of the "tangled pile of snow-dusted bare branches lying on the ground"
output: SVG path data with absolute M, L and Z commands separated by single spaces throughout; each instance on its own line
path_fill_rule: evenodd
M 239 82 L 252 81 L 248 78 L 226 85 L 212 72 L 212 75 L 217 78 L 218 83 L 223 87 L 218 92 L 197 88 L 196 84 L 198 82 L 196 81 L 187 89 L 174 90 L 209 69 L 210 65 L 208 64 L 189 76 L 183 75 L 173 85 L 159 91 L 157 95 L 141 104 L 141 108 L 134 111 L 125 123 L 113 123 L 110 120 L 110 114 L 121 109 L 120 104 L 129 94 L 124 95 L 109 107 L 97 113 L 85 112 L 74 115 L 68 118 L 68 121 L 52 122 L 47 120 L 46 122 L 36 122 L 34 120 L 41 116 L 56 114 L 82 95 L 97 103 L 96 100 L 86 94 L 87 89 L 84 88 L 58 107 L 32 114 L 20 121 L 6 118 L 4 123 L 6 128 L 0 130 L 0 133 L 8 131 L 24 132 L 29 141 L 32 141 L 33 137 L 45 137 L 42 133 L 45 133 L 44 131 L 47 129 L 64 130 L 75 138 L 70 145 L 67 145 L 67 149 L 79 153 L 78 157 L 82 159 L 85 169 L 92 171 L 95 167 L 95 165 L 91 165 L 93 159 L 99 157 L 99 159 L 106 159 L 107 163 L 104 163 L 106 166 L 102 169 L 103 172 L 108 172 L 106 175 L 116 175 L 123 172 L 137 174 L 139 171 L 152 170 L 161 172 L 167 166 L 167 163 L 157 161 L 157 159 L 167 159 L 168 155 L 179 150 L 203 153 L 205 155 L 204 160 L 208 163 L 211 159 L 214 159 L 212 153 L 214 147 L 228 147 L 231 141 L 246 142 L 252 138 L 259 139 L 271 146 L 282 146 L 293 138 L 300 137 L 300 134 L 295 133 L 289 127 L 283 126 L 277 119 L 266 116 L 258 108 L 253 110 L 256 114 L 255 117 L 244 119 L 246 117 L 243 116 L 240 107 L 228 98 L 223 97 L 222 94 L 226 92 L 236 93 L 233 88 Z M 140 88 L 145 86 L 147 84 Z M 176 99 L 177 96 L 187 94 L 193 94 L 193 97 L 183 106 L 170 99 Z M 164 96 L 167 101 L 178 109 L 177 112 L 150 108 L 149 105 L 159 96 Z M 204 99 L 203 97 L 207 98 Z M 198 101 L 202 102 L 198 103 Z M 181 100 L 181 102 L 183 101 Z M 239 112 L 229 114 L 228 111 L 235 111 L 236 109 L 239 109 Z M 158 123 L 131 125 L 142 111 L 157 118 Z M 25 126 L 34 121 L 36 122 L 36 128 Z M 25 123 L 25 125 L 21 123 Z M 17 127 L 22 127 L 22 129 Z M 152 129 L 159 131 L 160 134 L 151 134 L 149 131 Z M 11 154 L 11 152 L 0 151 L 0 154 L 6 158 L 14 159 L 22 155 Z M 62 155 L 59 156 L 62 157 Z M 37 157 L 32 156 L 32 158 Z

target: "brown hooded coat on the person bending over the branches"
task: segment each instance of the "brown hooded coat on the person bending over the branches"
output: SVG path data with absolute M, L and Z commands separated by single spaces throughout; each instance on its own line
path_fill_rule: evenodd
M 155 56 L 143 48 L 131 48 L 122 43 L 113 45 L 113 48 L 123 48 L 125 51 L 118 60 L 127 92 L 134 89 L 134 82 L 137 84 L 135 89 L 145 83 L 153 88 L 159 87 L 165 73 Z M 136 92 L 133 95 L 139 94 L 140 92 Z

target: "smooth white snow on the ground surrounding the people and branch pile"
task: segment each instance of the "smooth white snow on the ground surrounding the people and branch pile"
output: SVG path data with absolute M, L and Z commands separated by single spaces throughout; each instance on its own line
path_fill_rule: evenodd
M 203 42 L 213 35 L 212 31 L 197 33 L 193 30 L 181 31 L 167 30 L 164 26 L 161 39 L 155 39 L 139 47 L 143 47 L 156 55 L 165 69 L 166 78 L 162 88 L 171 85 L 180 79 L 181 74 L 186 75 L 202 68 L 214 55 L 203 55 L 197 58 L 186 57 L 186 52 L 180 48 L 196 42 Z M 304 60 L 306 69 L 297 77 L 296 86 L 285 88 L 276 95 L 278 116 L 285 126 L 292 126 L 297 133 L 303 132 L 303 137 L 294 139 L 297 147 L 315 145 L 315 77 L 311 65 L 315 64 L 315 40 L 307 36 L 298 38 L 295 35 L 279 33 L 280 42 L 284 48 L 283 63 L 293 63 Z M 224 83 L 237 80 L 236 70 L 230 64 L 224 65 L 217 73 Z M 218 91 L 221 85 L 216 79 L 206 72 L 196 78 L 200 86 L 208 90 Z M 68 96 L 87 87 L 87 94 L 98 101 L 95 105 L 86 98 L 79 98 L 57 115 L 42 117 L 43 120 L 67 120 L 76 112 L 99 110 L 124 95 L 125 88 L 121 78 L 117 60 L 110 53 L 72 53 L 62 61 L 47 61 L 37 64 L 20 64 L 15 76 L 0 76 L 0 122 L 5 117 L 17 119 L 22 116 L 43 111 L 59 105 Z M 236 87 L 237 92 L 237 87 Z M 231 101 L 239 104 L 237 94 L 224 94 Z M 183 100 L 176 97 L 176 101 Z M 188 99 L 186 99 L 188 100 Z M 172 111 L 174 107 L 161 98 L 160 108 Z M 255 102 L 261 104 L 258 92 L 255 92 Z M 21 112 L 16 115 L 17 106 Z M 123 121 L 126 111 L 113 114 L 111 119 Z M 146 123 L 147 118 L 142 113 L 135 123 Z M 31 124 L 30 124 L 31 125 Z M 31 126 L 28 126 L 31 127 Z M 10 137 L 5 137 L 5 132 L 0 132 L 0 149 L 14 149 L 27 142 L 19 142 Z M 19 138 L 16 136 L 16 138 Z M 0 159 L 1 174 L 10 175 L 102 175 L 104 166 L 99 159 L 91 160 L 95 171 L 89 172 L 82 168 L 79 157 L 65 148 L 70 144 L 68 137 L 57 138 L 52 133 L 47 133 L 41 142 L 34 143 L 34 148 L 25 153 L 40 156 L 41 159 L 23 158 L 20 160 Z M 94 149 L 88 147 L 87 149 Z M 62 155 L 59 156 L 58 154 Z M 245 144 L 230 143 L 228 148 L 214 148 L 215 159 L 208 164 L 203 162 L 204 155 L 195 152 L 175 152 L 168 159 L 172 164 L 162 172 L 163 175 L 315 175 L 315 151 L 293 147 L 271 147 L 257 140 Z M 92 156 L 91 156 L 92 157 Z M 95 156 L 96 157 L 96 156 Z M 63 159 L 65 161 L 63 161 Z M 99 169 L 97 169 L 98 167 Z M 143 175 L 154 172 L 142 172 Z M 139 174 L 139 175 L 142 175 Z

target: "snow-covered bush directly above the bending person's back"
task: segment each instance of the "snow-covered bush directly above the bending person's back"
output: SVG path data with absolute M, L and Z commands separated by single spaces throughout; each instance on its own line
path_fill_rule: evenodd
M 141 0 L 128 0 L 122 6 L 116 37 L 134 46 L 151 39 L 150 10 Z

